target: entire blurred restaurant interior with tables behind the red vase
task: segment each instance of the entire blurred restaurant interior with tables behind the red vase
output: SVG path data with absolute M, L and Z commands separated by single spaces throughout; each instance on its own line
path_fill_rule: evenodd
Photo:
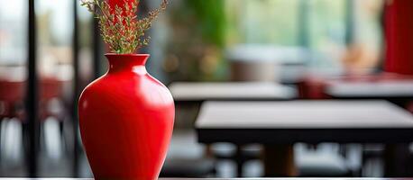
M 80 4 L 0 0 L 0 177 L 93 176 L 78 98 L 107 46 Z M 175 103 L 160 176 L 413 176 L 412 17 L 411 0 L 171 0 L 140 49 Z

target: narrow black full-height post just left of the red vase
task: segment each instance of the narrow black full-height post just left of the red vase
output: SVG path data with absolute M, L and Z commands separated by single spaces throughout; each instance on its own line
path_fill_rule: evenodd
M 78 65 L 78 0 L 73 0 L 73 176 L 78 177 L 78 157 L 79 157 L 79 142 L 78 142 L 78 96 L 79 96 L 79 65 Z

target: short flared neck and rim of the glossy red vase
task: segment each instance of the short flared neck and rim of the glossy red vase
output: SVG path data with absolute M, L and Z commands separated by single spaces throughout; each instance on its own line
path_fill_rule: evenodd
M 145 64 L 149 54 L 106 54 L 109 60 L 109 73 L 138 71 L 146 73 Z

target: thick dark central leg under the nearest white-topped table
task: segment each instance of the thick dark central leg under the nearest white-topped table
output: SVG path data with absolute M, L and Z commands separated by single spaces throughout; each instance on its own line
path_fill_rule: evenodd
M 265 145 L 263 161 L 267 177 L 298 175 L 292 145 Z

